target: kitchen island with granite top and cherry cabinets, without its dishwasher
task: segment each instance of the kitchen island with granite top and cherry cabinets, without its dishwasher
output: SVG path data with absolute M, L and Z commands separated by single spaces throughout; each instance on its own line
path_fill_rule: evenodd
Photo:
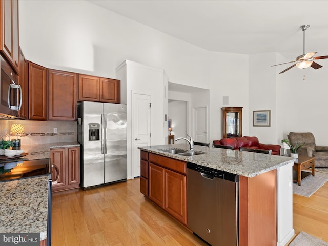
M 294 236 L 294 158 L 203 146 L 194 146 L 200 154 L 183 156 L 168 152 L 173 148 L 186 152 L 189 144 L 139 147 L 140 189 L 182 224 L 188 226 L 186 164 L 190 162 L 238 175 L 239 245 L 285 245 Z

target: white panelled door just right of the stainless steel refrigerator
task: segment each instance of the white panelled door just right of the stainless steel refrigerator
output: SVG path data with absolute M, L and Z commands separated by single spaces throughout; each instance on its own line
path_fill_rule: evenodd
M 151 96 L 133 94 L 133 177 L 140 176 L 139 146 L 150 146 Z

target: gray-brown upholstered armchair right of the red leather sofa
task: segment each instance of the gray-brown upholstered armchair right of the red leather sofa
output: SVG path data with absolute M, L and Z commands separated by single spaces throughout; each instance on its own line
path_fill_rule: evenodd
M 311 132 L 290 132 L 288 140 L 295 145 L 304 145 L 298 149 L 301 156 L 315 157 L 315 166 L 328 168 L 328 146 L 317 146 L 316 140 Z

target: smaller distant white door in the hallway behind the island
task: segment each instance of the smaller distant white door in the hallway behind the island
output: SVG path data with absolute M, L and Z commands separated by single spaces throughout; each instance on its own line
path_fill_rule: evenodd
M 207 107 L 193 108 L 194 141 L 207 142 Z

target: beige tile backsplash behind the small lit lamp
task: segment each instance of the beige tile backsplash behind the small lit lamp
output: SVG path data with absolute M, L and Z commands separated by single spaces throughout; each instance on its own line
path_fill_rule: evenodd
M 0 120 L 0 136 L 2 138 L 16 139 L 16 136 L 10 135 L 13 123 L 24 126 L 24 134 L 18 135 L 22 145 L 77 141 L 76 121 Z M 57 133 L 54 133 L 54 128 L 57 128 Z

